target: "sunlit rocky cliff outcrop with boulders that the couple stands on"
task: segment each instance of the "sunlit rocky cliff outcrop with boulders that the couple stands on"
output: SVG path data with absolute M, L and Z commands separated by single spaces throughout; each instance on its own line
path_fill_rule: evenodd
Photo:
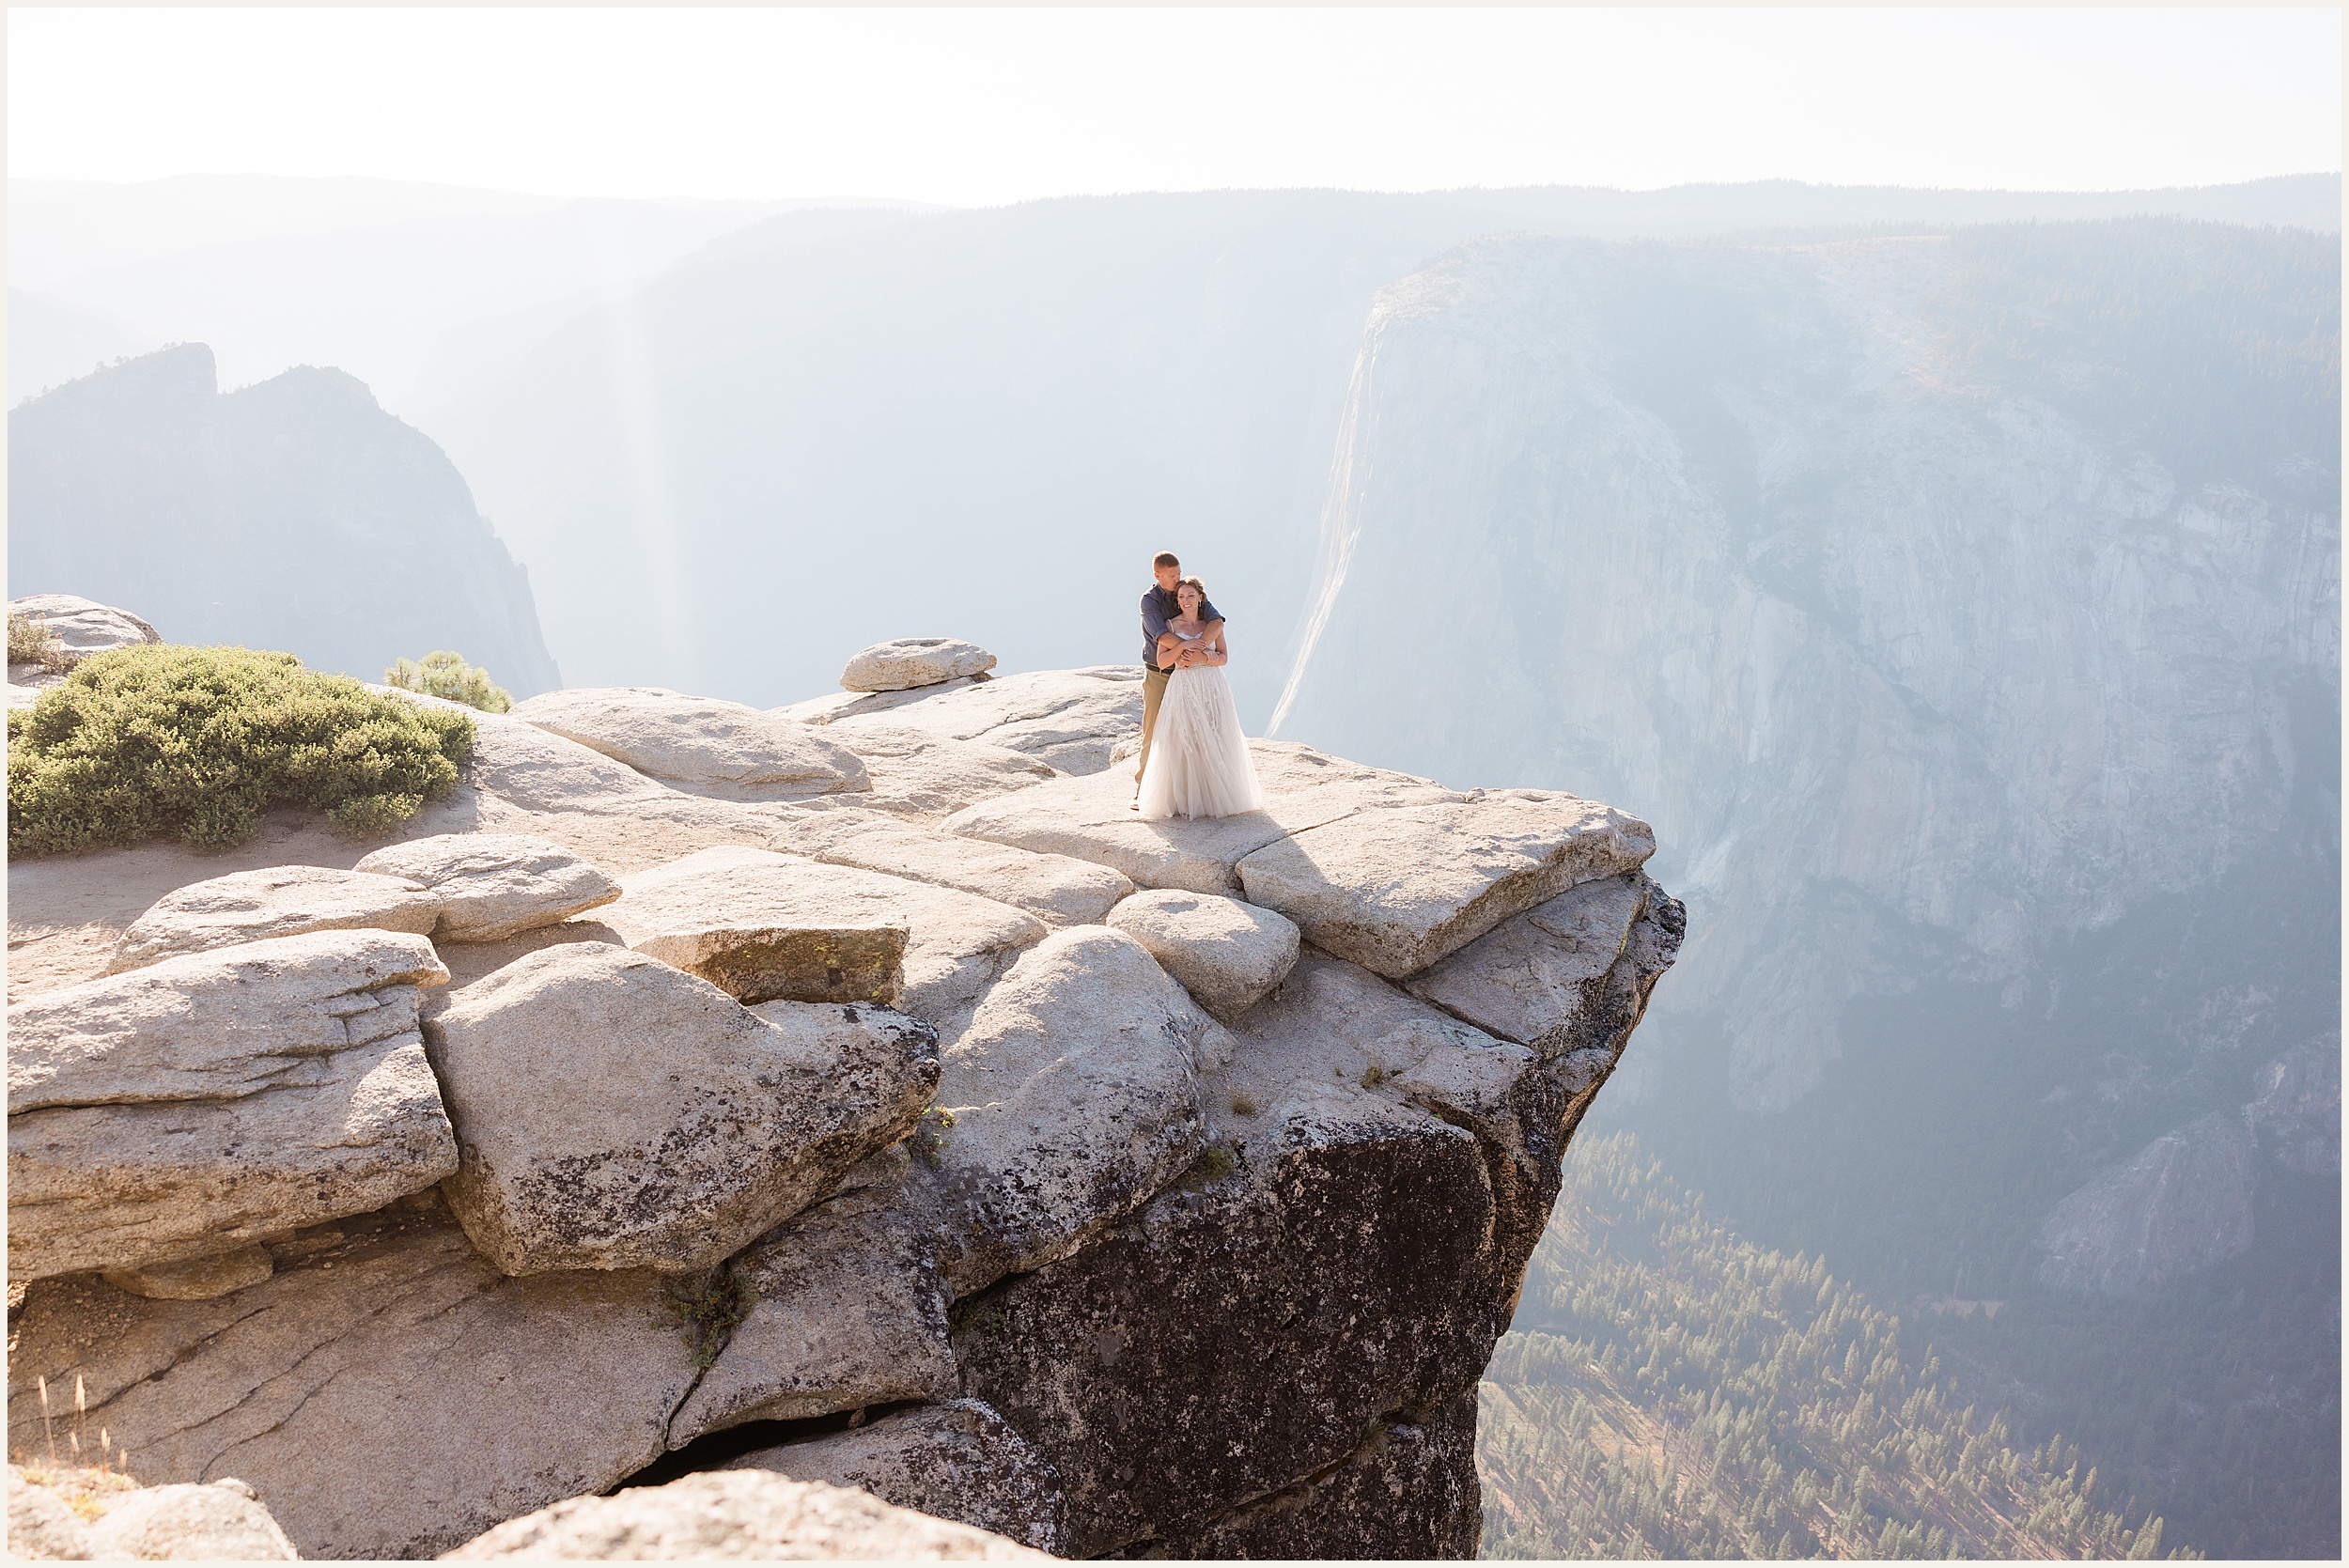
M 1144 824 L 1130 671 L 890 697 L 566 692 L 364 861 L 12 864 L 12 1446 L 80 1378 L 305 1556 L 745 1467 L 1473 1554 L 1478 1373 L 1684 930 L 1647 824 L 1271 742 L 1261 812 Z

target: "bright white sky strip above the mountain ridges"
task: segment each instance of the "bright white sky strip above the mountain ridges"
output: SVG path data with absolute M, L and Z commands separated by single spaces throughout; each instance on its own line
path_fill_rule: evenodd
M 2335 9 L 9 9 L 16 178 L 949 204 L 2340 169 Z

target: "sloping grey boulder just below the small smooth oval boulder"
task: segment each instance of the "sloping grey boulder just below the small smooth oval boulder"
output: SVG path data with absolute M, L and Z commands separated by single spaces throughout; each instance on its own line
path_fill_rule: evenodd
M 1231 1038 L 1149 951 L 1099 925 L 1019 955 L 944 1052 L 916 1138 L 956 1296 L 1066 1258 L 1205 1145 L 1200 1075 Z

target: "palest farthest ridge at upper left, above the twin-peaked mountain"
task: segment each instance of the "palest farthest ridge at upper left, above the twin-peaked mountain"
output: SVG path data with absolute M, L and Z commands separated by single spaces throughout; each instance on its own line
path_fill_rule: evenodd
M 428 387 L 472 387 L 571 315 L 803 207 L 366 178 L 9 181 L 9 279 L 143 347 L 209 343 L 228 385 L 336 364 L 413 420 Z M 28 347 L 12 336 L 12 404 L 92 369 Z

